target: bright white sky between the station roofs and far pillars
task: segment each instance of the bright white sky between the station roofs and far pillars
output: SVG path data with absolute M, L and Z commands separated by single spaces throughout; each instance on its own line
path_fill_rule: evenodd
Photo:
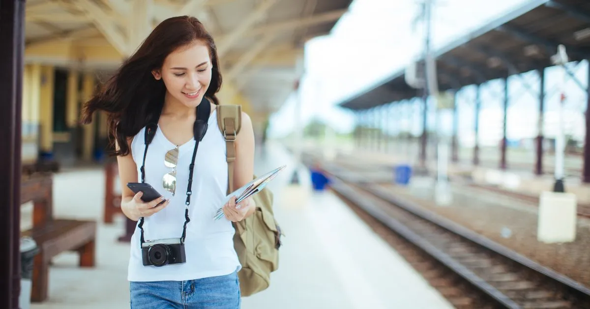
M 336 106 L 342 100 L 369 89 L 395 71 L 404 69 L 412 58 L 420 56 L 423 48 L 422 25 L 412 28 L 412 20 L 418 14 L 417 0 L 355 0 L 347 12 L 337 22 L 330 35 L 310 40 L 305 47 L 305 71 L 300 87 L 302 117 L 304 123 L 312 118 L 320 118 L 339 132 L 349 132 L 354 128 L 352 112 Z M 432 22 L 432 44 L 434 49 L 448 44 L 461 35 L 488 24 L 493 19 L 530 2 L 530 0 L 438 0 Z M 586 83 L 587 65 L 572 67 L 576 76 Z M 559 70 L 546 71 L 546 89 L 560 79 Z M 523 76 L 535 92 L 539 88 L 539 77 L 530 73 Z M 537 95 L 527 93 L 522 80 L 509 81 L 510 107 L 508 119 L 509 139 L 532 137 L 536 135 L 538 113 Z M 583 115 L 585 92 L 571 80 L 566 83 L 568 101 L 566 115 L 569 121 L 566 131 L 583 136 Z M 558 93 L 546 97 L 546 135 L 551 135 L 556 127 L 556 108 Z M 460 94 L 457 104 L 460 110 L 459 125 L 461 139 L 468 143 L 473 140 L 474 127 L 474 87 L 467 87 Z M 480 139 L 483 143 L 495 143 L 501 136 L 503 102 L 503 83 L 496 81 L 481 90 L 482 112 L 480 117 Z M 296 95 L 291 95 L 283 107 L 271 117 L 269 135 L 279 137 L 289 134 L 296 124 L 293 118 L 296 108 Z M 409 106 L 394 107 L 394 115 L 409 110 Z M 512 114 L 512 115 L 511 115 Z M 410 118 L 398 117 L 388 128 L 402 126 L 412 128 L 415 134 L 421 132 L 418 110 Z M 489 115 L 489 116 L 487 116 Z M 411 120 L 410 120 L 411 119 Z M 429 125 L 434 126 L 435 115 L 429 115 Z M 444 127 L 450 129 L 450 115 L 442 116 Z M 581 122 L 582 121 L 582 122 Z M 394 130 L 395 131 L 395 130 Z M 471 133 L 470 133 L 471 132 Z M 566 132 L 567 133 L 567 132 Z

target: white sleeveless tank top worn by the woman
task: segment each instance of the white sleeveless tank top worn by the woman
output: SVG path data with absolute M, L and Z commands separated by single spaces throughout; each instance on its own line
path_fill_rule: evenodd
M 145 149 L 143 128 L 133 138 L 131 150 L 137 165 L 137 178 L 141 180 L 143 151 Z M 170 204 L 160 212 L 145 217 L 143 237 L 145 240 L 180 238 L 185 222 L 186 188 L 189 165 L 195 148 L 195 139 L 180 145 L 176 167 L 176 193 L 164 190 L 162 177 L 172 171 L 164 165 L 167 151 L 176 145 L 168 141 L 158 129 L 149 145 L 145 162 L 145 181 L 155 188 Z M 217 110 L 209 116 L 208 129 L 199 142 L 196 152 L 192 181 L 189 217 L 186 226 L 186 263 L 161 267 L 143 266 L 140 249 L 140 230 L 136 225 L 131 239 L 129 281 L 182 281 L 231 274 L 241 265 L 234 249 L 234 227 L 227 219 L 214 220 L 214 214 L 223 206 L 227 193 L 227 161 L 225 140 L 217 125 Z

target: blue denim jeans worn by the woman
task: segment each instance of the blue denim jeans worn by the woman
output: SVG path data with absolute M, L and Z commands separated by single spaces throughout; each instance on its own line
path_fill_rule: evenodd
M 131 308 L 239 309 L 237 272 L 188 281 L 154 281 L 129 284 Z

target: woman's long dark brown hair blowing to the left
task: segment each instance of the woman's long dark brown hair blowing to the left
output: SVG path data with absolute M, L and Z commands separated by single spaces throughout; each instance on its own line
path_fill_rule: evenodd
M 217 48 L 211 34 L 195 17 L 181 16 L 161 22 L 137 51 L 119 67 L 99 92 L 82 109 L 81 121 L 90 123 L 97 110 L 109 115 L 109 148 L 113 155 L 129 154 L 127 138 L 135 136 L 155 113 L 162 110 L 166 86 L 156 80 L 152 70 L 160 69 L 168 54 L 176 48 L 202 40 L 209 47 L 212 72 L 205 97 L 219 104 L 215 93 L 221 89 Z M 119 150 L 114 151 L 114 139 Z

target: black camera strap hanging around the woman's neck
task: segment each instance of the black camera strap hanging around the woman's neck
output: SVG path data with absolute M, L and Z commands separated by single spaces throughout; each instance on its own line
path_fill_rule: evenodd
M 160 112 L 161 113 L 161 112 Z M 158 122 L 160 119 L 160 113 L 156 113 L 152 119 L 148 122 L 145 129 L 145 150 L 143 151 L 143 161 L 142 167 L 140 168 L 140 172 L 142 173 L 142 183 L 145 183 L 145 163 L 146 163 L 146 155 L 148 154 L 148 147 L 153 141 L 153 137 L 156 135 L 156 131 L 158 130 Z M 199 147 L 199 142 L 202 141 L 205 133 L 207 133 L 207 126 L 209 122 L 209 115 L 211 115 L 211 104 L 209 100 L 203 99 L 199 106 L 196 108 L 196 120 L 195 124 L 193 125 L 193 137 L 195 139 L 195 148 L 192 151 L 192 159 L 191 165 L 189 165 L 189 178 L 188 178 L 188 188 L 186 188 L 186 208 L 185 208 L 185 223 L 182 227 L 182 236 L 181 236 L 181 243 L 184 243 L 186 238 L 186 225 L 191 221 L 188 216 L 188 206 L 191 204 L 191 195 L 192 195 L 192 175 L 195 168 L 195 158 L 196 158 L 196 150 Z M 139 219 L 139 230 L 141 231 L 140 236 L 140 243 L 139 248 L 142 248 L 143 243 L 145 240 L 143 239 L 143 217 Z

